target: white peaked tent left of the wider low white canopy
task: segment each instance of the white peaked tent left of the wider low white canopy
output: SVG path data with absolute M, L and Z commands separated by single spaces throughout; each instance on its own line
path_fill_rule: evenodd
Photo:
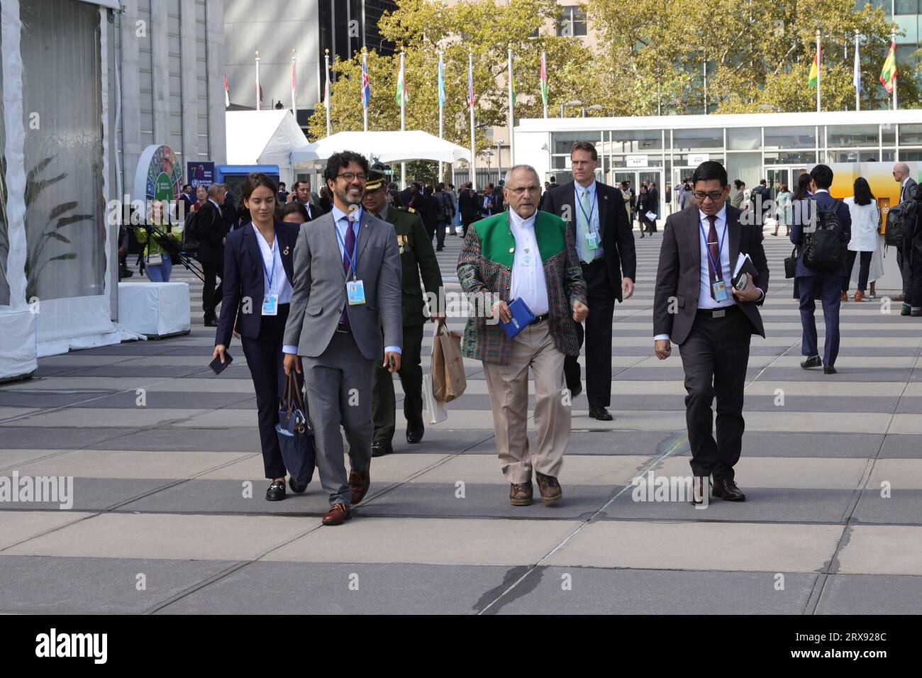
M 288 109 L 229 111 L 225 119 L 228 164 L 278 165 L 279 179 L 291 183 L 291 151 L 307 137 Z

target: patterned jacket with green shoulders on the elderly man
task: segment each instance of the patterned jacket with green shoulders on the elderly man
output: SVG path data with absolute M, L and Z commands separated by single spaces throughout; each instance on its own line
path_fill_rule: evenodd
M 557 349 L 579 355 L 573 302 L 586 303 L 583 269 L 576 256 L 574 229 L 550 212 L 538 211 L 535 237 L 548 285 L 550 335 Z M 490 316 L 491 302 L 512 301 L 512 270 L 515 239 L 507 212 L 471 224 L 458 256 L 458 281 L 467 292 L 471 308 L 465 327 L 462 352 L 485 363 L 509 363 L 512 339 Z M 488 322 L 490 321 L 490 322 Z

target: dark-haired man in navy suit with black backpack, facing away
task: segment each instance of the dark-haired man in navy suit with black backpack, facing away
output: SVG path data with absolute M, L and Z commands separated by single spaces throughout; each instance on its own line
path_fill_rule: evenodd
M 845 271 L 845 248 L 852 238 L 852 218 L 842 200 L 829 195 L 833 170 L 817 165 L 810 172 L 813 197 L 794 206 L 791 242 L 798 246 L 798 267 L 794 279 L 794 298 L 800 300 L 803 336 L 800 353 L 807 357 L 805 370 L 822 365 L 825 375 L 835 374 L 839 354 L 839 303 Z M 817 349 L 816 298 L 822 300 L 826 341 L 822 360 Z

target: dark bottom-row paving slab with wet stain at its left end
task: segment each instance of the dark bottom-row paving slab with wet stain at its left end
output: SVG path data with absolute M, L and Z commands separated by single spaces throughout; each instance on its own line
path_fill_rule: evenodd
M 818 575 L 538 567 L 496 602 L 499 614 L 800 614 Z M 570 588 L 565 588 L 569 586 Z

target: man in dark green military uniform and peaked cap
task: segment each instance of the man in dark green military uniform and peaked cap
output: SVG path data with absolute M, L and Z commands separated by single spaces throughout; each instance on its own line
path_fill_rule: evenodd
M 384 174 L 372 170 L 365 184 L 364 207 L 374 216 L 394 224 L 397 245 L 400 249 L 400 263 L 403 267 L 403 353 L 400 361 L 400 383 L 404 389 L 404 417 L 407 418 L 407 442 L 419 443 L 424 426 L 422 422 L 422 368 L 420 348 L 422 327 L 426 322 L 420 276 L 426 292 L 435 299 L 442 298 L 442 273 L 432 250 L 432 241 L 423 226 L 419 213 L 413 208 L 394 208 L 387 204 Z M 441 313 L 432 309 L 433 320 L 444 323 Z M 372 417 L 374 436 L 372 457 L 381 457 L 394 451 L 396 420 L 396 398 L 394 379 L 380 365 L 374 371 L 372 387 Z

